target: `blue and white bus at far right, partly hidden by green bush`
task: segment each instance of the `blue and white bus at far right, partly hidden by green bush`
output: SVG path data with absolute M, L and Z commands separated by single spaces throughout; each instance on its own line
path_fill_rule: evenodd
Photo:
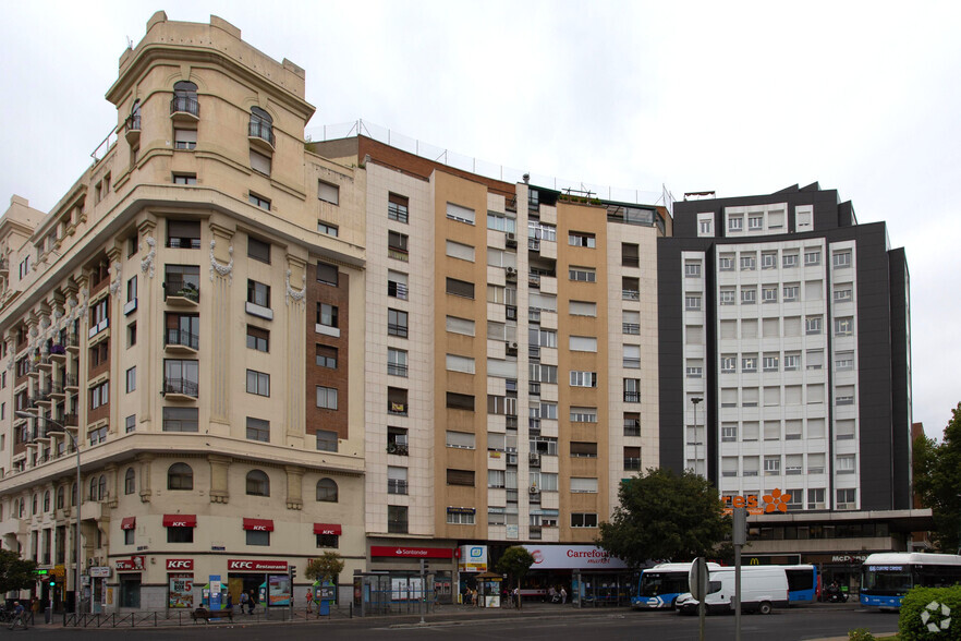
M 961 583 L 961 556 L 888 552 L 872 554 L 861 566 L 861 605 L 900 609 L 917 585 L 949 588 Z

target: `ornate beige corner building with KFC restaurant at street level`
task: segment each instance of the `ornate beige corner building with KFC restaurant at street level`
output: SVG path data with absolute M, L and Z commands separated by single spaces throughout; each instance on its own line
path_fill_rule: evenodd
M 0 542 L 58 609 L 77 510 L 94 612 L 198 606 L 215 577 L 281 605 L 324 551 L 365 567 L 366 177 L 304 149 L 304 78 L 158 12 L 92 167 L 0 219 Z

